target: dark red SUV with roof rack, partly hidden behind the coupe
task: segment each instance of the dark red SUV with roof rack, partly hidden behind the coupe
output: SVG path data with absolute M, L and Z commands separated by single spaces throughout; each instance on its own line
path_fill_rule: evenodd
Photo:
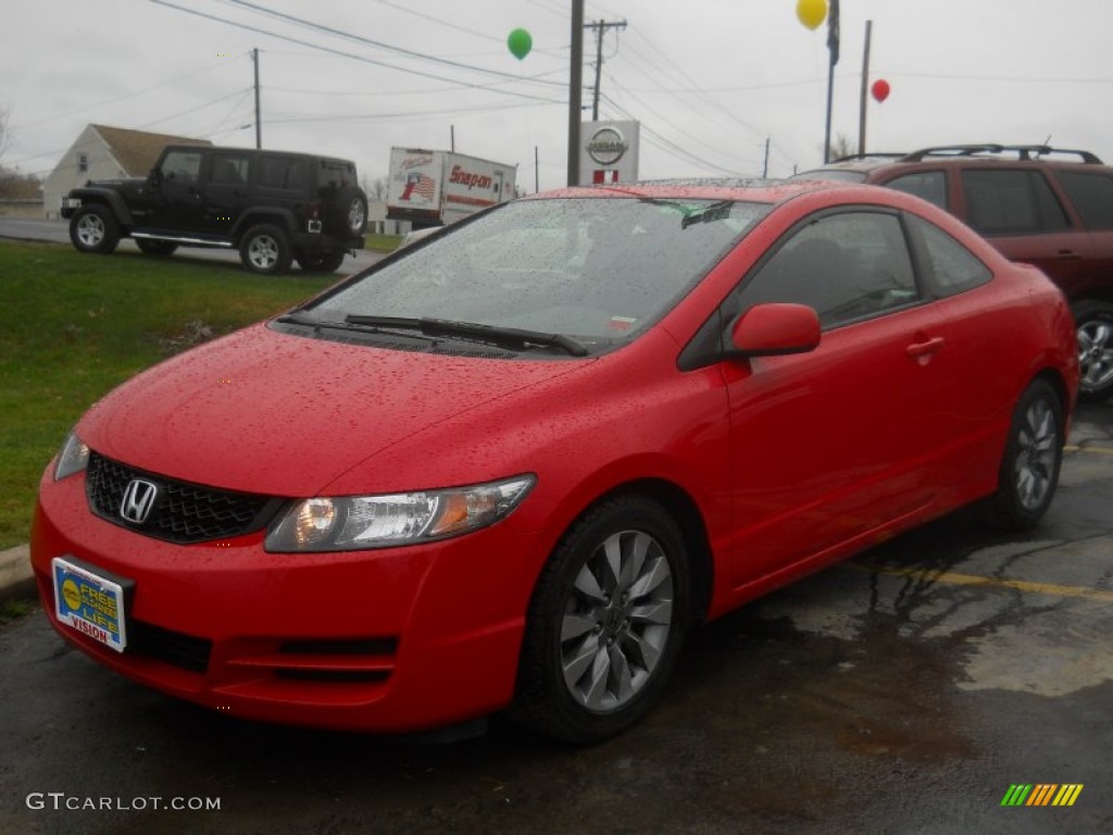
M 957 145 L 845 157 L 796 176 L 819 177 L 923 197 L 1043 269 L 1071 302 L 1082 394 L 1113 393 L 1113 167 L 1085 150 Z

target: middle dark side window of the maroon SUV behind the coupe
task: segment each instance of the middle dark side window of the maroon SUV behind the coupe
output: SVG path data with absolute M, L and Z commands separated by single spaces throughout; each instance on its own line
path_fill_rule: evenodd
M 1058 232 L 1071 226 L 1042 171 L 966 169 L 962 177 L 967 223 L 983 235 Z

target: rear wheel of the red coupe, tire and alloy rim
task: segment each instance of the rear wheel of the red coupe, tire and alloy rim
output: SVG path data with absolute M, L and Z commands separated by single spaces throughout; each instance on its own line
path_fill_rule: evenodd
M 1034 380 L 1013 412 L 997 492 L 983 503 L 989 525 L 1024 530 L 1040 522 L 1055 495 L 1064 443 L 1058 393 L 1046 380 Z

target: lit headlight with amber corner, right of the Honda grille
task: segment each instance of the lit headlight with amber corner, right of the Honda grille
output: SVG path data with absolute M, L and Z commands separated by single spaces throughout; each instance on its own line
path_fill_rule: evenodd
M 519 475 L 449 490 L 306 499 L 270 530 L 266 550 L 359 551 L 455 537 L 505 518 L 534 482 Z

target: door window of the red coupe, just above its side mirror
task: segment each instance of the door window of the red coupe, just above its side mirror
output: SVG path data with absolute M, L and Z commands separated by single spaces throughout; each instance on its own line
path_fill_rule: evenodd
M 739 294 L 728 318 L 757 304 L 791 302 L 815 308 L 824 328 L 920 297 L 900 220 L 881 212 L 827 215 L 797 227 Z

